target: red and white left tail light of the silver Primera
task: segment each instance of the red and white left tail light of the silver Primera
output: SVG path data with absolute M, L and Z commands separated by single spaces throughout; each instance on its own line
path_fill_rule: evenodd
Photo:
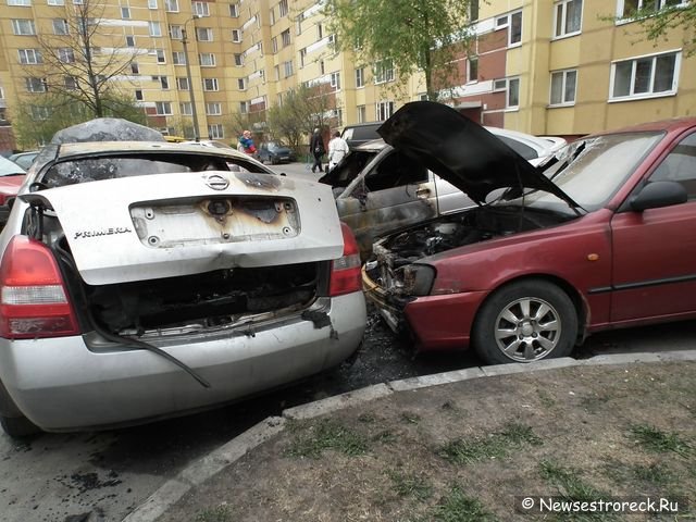
M 0 337 L 29 339 L 79 334 L 53 253 L 14 236 L 0 262 Z

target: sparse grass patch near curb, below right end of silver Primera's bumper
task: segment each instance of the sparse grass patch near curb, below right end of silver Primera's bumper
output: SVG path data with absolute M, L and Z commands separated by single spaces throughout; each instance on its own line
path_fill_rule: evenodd
M 368 452 L 368 439 L 333 420 L 322 420 L 315 424 L 293 426 L 293 440 L 286 449 L 290 457 L 319 458 L 323 451 L 332 449 L 348 456 Z

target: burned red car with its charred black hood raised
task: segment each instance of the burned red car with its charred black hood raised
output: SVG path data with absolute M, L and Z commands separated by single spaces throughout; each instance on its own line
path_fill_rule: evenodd
M 363 268 L 419 350 L 529 362 L 696 316 L 696 117 L 585 137 L 545 170 L 442 104 L 409 103 L 380 134 L 477 203 L 380 238 Z

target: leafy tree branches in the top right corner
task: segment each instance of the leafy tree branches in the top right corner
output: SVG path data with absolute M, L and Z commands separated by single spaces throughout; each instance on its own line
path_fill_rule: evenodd
M 685 54 L 696 53 L 696 0 L 667 0 L 664 8 L 658 8 L 654 1 L 644 2 L 641 9 L 624 15 L 637 20 L 643 34 L 654 42 L 666 38 L 671 29 L 684 28 Z

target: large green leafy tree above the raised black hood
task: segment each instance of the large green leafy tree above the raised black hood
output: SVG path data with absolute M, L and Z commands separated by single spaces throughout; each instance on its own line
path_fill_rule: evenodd
M 393 64 L 403 85 L 414 73 L 425 76 L 427 98 L 455 71 L 452 59 L 465 52 L 477 17 L 478 0 L 327 0 L 335 46 L 353 51 L 359 63 Z

